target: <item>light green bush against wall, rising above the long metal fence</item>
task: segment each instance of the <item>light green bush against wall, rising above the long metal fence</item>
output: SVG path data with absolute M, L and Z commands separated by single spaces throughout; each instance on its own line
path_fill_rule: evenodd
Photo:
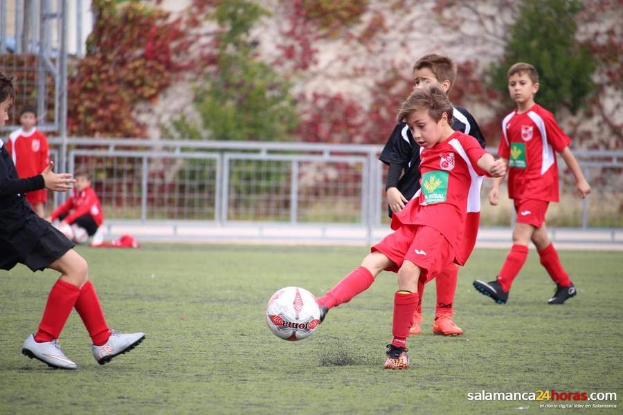
M 222 33 L 217 36 L 216 68 L 195 91 L 201 127 L 215 140 L 285 140 L 298 118 L 290 84 L 253 55 L 249 32 L 268 15 L 250 1 L 223 1 L 215 11 Z M 175 126 L 174 126 L 175 127 Z M 190 137 L 196 127 L 183 127 Z

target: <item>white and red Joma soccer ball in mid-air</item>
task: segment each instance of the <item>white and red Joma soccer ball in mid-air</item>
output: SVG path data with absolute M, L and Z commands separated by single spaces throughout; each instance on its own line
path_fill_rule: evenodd
M 303 340 L 318 328 L 320 308 L 316 297 L 305 288 L 281 288 L 269 300 L 266 319 L 278 338 Z

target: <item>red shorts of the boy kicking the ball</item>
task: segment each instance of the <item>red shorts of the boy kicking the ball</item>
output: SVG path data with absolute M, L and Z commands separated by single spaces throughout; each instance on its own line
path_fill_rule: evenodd
M 386 268 L 397 273 L 403 261 L 411 261 L 422 268 L 420 278 L 430 281 L 454 261 L 454 249 L 435 228 L 425 225 L 402 225 L 392 234 L 370 248 L 381 252 L 395 265 Z

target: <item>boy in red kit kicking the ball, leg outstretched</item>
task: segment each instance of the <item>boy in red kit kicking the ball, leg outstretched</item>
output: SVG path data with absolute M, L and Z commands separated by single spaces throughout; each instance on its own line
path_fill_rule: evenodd
M 402 104 L 397 118 L 408 124 L 422 148 L 422 188 L 392 215 L 395 232 L 372 246 L 359 268 L 318 299 L 324 320 L 328 308 L 350 301 L 381 270 L 398 273 L 394 338 L 388 344 L 386 369 L 409 367 L 406 338 L 417 307 L 418 282 L 465 264 L 471 254 L 480 218 L 482 175 L 506 172 L 505 164 L 482 149 L 475 138 L 452 129 L 452 111 L 438 85 L 415 89 Z

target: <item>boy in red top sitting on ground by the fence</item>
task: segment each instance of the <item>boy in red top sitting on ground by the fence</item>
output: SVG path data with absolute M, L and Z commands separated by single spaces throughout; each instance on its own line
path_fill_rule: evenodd
M 96 192 L 91 188 L 89 172 L 79 169 L 74 173 L 73 195 L 52 212 L 48 221 L 55 223 L 58 230 L 77 243 L 84 243 L 96 234 L 104 221 L 102 205 Z M 97 245 L 96 241 L 93 241 Z

